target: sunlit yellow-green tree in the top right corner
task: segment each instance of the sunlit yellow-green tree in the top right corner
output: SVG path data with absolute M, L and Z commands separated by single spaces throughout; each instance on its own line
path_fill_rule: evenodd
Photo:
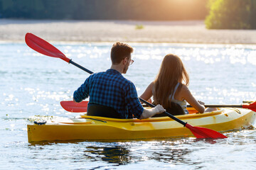
M 256 0 L 210 0 L 208 29 L 255 29 Z

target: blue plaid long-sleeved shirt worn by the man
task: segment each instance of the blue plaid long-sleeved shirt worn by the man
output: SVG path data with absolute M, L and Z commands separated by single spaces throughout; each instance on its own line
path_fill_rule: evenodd
M 132 118 L 132 115 L 140 118 L 144 111 L 132 81 L 115 69 L 90 75 L 73 95 L 76 102 L 88 96 L 89 103 L 112 107 L 121 118 Z

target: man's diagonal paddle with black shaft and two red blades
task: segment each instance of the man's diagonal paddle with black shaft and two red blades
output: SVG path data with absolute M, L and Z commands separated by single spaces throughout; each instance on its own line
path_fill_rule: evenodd
M 71 61 L 70 59 L 68 59 L 68 57 L 65 57 L 65 55 L 62 52 L 60 52 L 56 47 L 54 47 L 50 43 L 46 42 L 46 40 L 38 38 L 36 35 L 33 35 L 32 33 L 26 34 L 25 41 L 29 47 L 31 47 L 33 50 L 36 50 L 37 52 L 40 52 L 43 55 L 60 58 L 60 59 L 64 60 L 65 62 L 74 64 L 76 67 L 79 67 L 80 69 L 84 70 L 85 72 L 92 74 L 92 72 L 90 70 L 85 69 L 84 67 Z M 147 101 L 144 101 L 142 98 L 139 98 L 139 100 L 142 101 L 143 103 L 146 103 L 148 106 L 154 107 L 154 105 L 152 105 L 151 103 L 148 103 Z M 188 123 L 185 123 L 182 120 L 174 117 L 174 115 L 171 115 L 170 113 L 167 113 L 167 112 L 165 112 L 165 113 L 170 118 L 176 120 L 178 123 L 181 123 L 184 127 L 191 130 L 193 135 L 195 135 L 197 138 L 226 138 L 225 135 L 222 135 L 219 132 L 216 132 L 214 130 L 210 130 L 207 128 L 193 127 L 192 125 L 189 125 Z

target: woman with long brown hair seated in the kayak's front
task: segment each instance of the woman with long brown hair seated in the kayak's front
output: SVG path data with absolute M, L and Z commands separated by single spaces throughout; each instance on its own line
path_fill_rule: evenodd
M 154 104 L 161 104 L 166 111 L 177 103 L 181 106 L 185 114 L 188 114 L 186 102 L 188 102 L 199 113 L 205 112 L 204 103 L 196 101 L 191 91 L 188 89 L 189 77 L 181 59 L 176 55 L 166 55 L 159 74 L 156 79 L 149 84 L 141 98 L 149 100 L 153 96 Z M 208 108 L 206 111 L 215 111 L 216 108 Z

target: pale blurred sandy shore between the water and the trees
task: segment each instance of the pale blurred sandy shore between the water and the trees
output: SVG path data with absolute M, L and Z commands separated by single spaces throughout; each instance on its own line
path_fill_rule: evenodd
M 142 26 L 142 29 L 138 29 Z M 204 21 L 49 21 L 0 19 L 0 42 L 33 33 L 49 42 L 256 45 L 256 30 L 208 30 Z

